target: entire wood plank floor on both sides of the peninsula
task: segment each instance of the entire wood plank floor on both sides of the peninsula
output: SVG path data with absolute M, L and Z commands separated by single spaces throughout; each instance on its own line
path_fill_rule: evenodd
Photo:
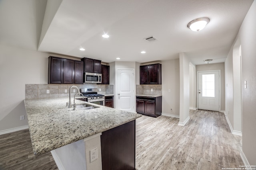
M 221 170 L 242 165 L 242 137 L 232 135 L 224 113 L 190 110 L 190 120 L 136 119 L 137 170 Z M 0 135 L 0 170 L 58 170 L 50 152 L 34 156 L 28 129 Z

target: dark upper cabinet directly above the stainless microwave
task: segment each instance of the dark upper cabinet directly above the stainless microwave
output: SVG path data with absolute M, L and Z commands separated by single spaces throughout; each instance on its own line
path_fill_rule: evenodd
M 82 58 L 84 62 L 84 72 L 101 73 L 101 61 L 89 58 Z

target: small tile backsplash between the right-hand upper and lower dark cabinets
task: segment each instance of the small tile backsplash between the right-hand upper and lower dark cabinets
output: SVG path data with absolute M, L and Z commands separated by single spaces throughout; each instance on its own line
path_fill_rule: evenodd
M 151 92 L 151 89 L 153 90 Z M 140 84 L 136 85 L 136 94 L 162 95 L 162 84 Z

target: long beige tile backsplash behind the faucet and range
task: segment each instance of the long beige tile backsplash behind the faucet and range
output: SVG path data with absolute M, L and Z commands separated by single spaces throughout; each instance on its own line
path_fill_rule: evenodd
M 79 90 L 81 88 L 93 88 L 98 94 L 114 94 L 114 85 L 106 84 L 25 84 L 25 99 L 68 97 L 71 86 L 77 86 Z M 77 90 L 74 93 L 73 89 L 75 88 L 71 90 L 71 97 L 74 97 L 74 95 L 78 93 Z M 100 89 L 101 91 L 99 91 Z M 50 91 L 49 94 L 46 93 L 47 90 Z M 65 92 L 65 90 L 67 92 Z

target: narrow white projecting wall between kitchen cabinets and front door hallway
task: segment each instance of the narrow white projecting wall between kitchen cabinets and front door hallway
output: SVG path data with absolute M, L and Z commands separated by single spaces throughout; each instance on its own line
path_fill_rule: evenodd
M 189 117 L 189 64 L 185 53 L 180 53 L 180 121 L 179 125 L 185 125 Z

